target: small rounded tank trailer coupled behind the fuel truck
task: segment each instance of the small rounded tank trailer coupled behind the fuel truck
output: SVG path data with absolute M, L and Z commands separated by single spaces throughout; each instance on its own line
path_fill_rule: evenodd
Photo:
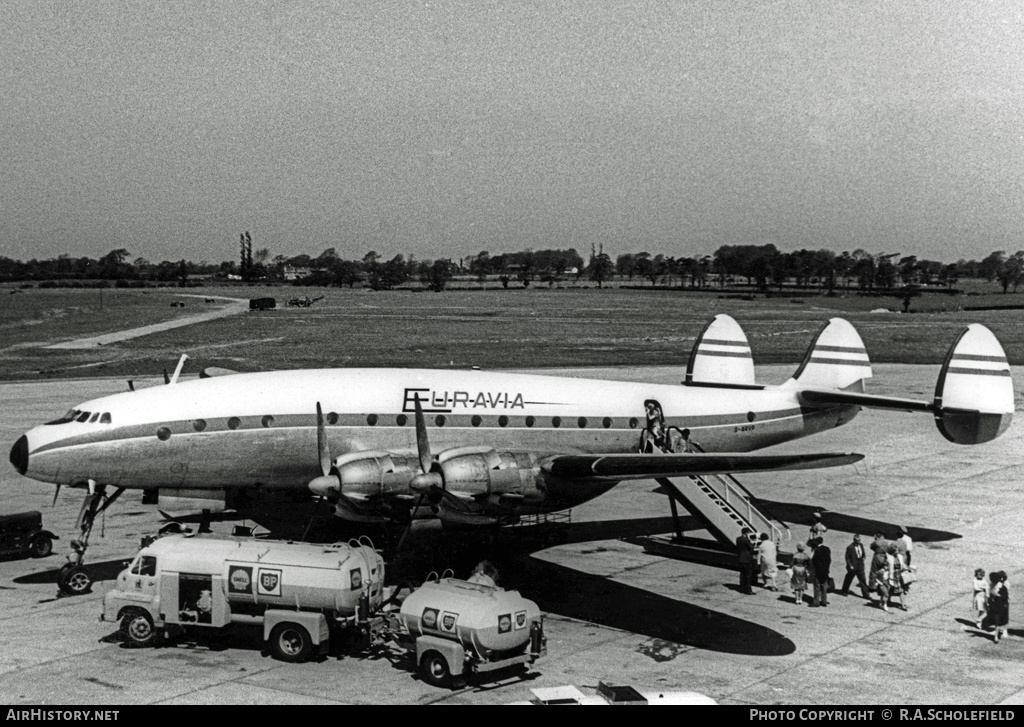
M 470 675 L 530 665 L 548 651 L 536 603 L 472 579 L 427 581 L 388 615 L 389 636 L 433 686 L 459 687 Z

